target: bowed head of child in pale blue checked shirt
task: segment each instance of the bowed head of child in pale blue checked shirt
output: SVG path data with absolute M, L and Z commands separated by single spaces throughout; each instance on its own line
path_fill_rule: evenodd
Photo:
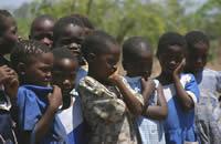
M 151 74 L 152 53 L 145 38 L 133 37 L 124 42 L 123 66 L 128 76 L 148 78 Z

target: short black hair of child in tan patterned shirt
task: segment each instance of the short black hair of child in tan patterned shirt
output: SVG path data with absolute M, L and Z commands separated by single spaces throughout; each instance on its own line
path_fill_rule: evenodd
M 87 60 L 90 53 L 105 53 L 109 44 L 117 44 L 116 39 L 104 31 L 94 31 L 82 43 L 83 56 Z

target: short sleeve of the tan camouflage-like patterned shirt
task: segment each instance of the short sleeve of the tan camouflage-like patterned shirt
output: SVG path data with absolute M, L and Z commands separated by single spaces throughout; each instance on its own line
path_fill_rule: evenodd
M 78 85 L 78 93 L 82 100 L 84 116 L 90 121 L 102 119 L 106 122 L 116 122 L 122 120 L 125 114 L 125 103 L 115 96 L 113 93 L 102 91 L 92 91 L 90 88 Z

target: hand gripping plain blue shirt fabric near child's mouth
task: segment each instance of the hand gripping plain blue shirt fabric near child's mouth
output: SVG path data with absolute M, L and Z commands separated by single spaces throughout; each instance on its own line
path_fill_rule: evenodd
M 53 93 L 48 95 L 49 104 L 52 111 L 56 112 L 62 105 L 62 91 L 59 86 L 54 85 Z

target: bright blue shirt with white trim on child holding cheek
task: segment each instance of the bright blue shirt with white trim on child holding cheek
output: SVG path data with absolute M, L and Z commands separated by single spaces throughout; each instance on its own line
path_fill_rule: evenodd
M 192 74 L 180 74 L 180 82 L 194 103 L 199 101 L 198 84 Z M 164 85 L 164 93 L 168 105 L 168 116 L 164 122 L 167 144 L 183 144 L 196 142 L 194 110 L 183 111 L 175 84 Z

